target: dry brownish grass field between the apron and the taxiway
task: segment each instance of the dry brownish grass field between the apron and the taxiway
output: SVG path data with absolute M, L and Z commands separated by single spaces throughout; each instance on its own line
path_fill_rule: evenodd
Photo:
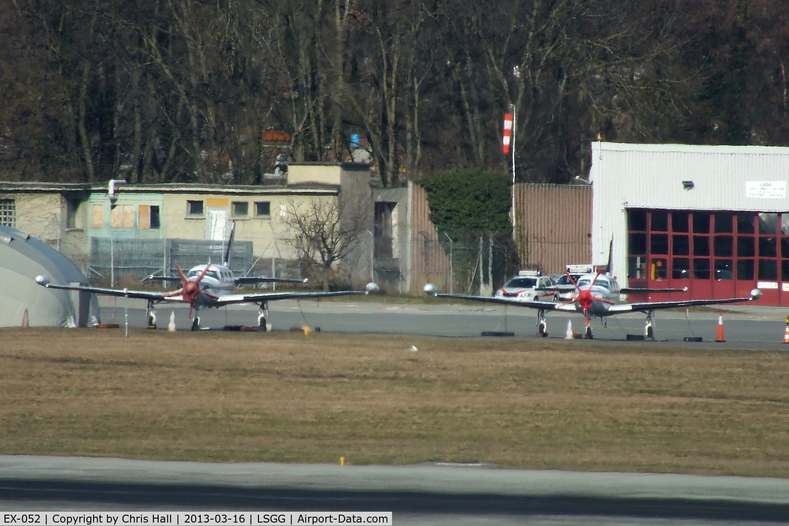
M 0 398 L 2 454 L 789 478 L 783 350 L 4 329 Z

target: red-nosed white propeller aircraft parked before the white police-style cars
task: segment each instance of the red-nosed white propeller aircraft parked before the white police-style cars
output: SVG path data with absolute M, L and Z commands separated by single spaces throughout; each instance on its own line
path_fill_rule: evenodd
M 569 276 L 569 274 L 567 275 Z M 687 287 L 676 288 L 619 288 L 616 278 L 603 274 L 602 271 L 584 274 L 573 283 L 570 290 L 575 290 L 575 297 L 569 302 L 540 302 L 524 301 L 518 298 L 502 298 L 487 296 L 471 296 L 467 294 L 439 294 L 436 286 L 428 283 L 424 286 L 424 292 L 430 296 L 439 298 L 458 298 L 468 299 L 473 302 L 499 303 L 503 305 L 514 305 L 519 307 L 529 307 L 537 309 L 537 327 L 539 334 L 548 336 L 548 324 L 545 321 L 546 310 L 559 310 L 562 312 L 583 313 L 585 322 L 585 338 L 593 338 L 592 324 L 589 319 L 592 317 L 613 316 L 614 314 L 642 312 L 646 313 L 646 324 L 644 335 L 646 339 L 654 339 L 653 320 L 654 311 L 657 309 L 671 309 L 674 307 L 689 307 L 697 305 L 720 305 L 722 303 L 750 302 L 761 297 L 761 291 L 754 288 L 750 291 L 748 298 L 722 298 L 722 299 L 686 299 L 675 302 L 623 302 L 621 294 L 630 292 L 682 292 L 687 291 Z M 560 290 L 557 286 L 546 287 L 544 290 Z

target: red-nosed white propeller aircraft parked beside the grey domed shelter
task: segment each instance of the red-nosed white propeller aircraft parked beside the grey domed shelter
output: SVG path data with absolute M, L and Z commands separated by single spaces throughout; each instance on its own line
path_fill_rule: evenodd
M 54 285 L 47 276 L 37 276 L 36 283 L 43 287 L 65 289 L 67 291 L 88 291 L 94 294 L 107 294 L 122 298 L 139 298 L 148 300 L 148 328 L 156 328 L 155 305 L 161 302 L 189 303 L 189 317 L 192 318 L 192 330 L 200 330 L 200 307 L 222 307 L 234 303 L 256 303 L 260 306 L 258 311 L 258 330 L 266 329 L 268 317 L 268 302 L 278 299 L 305 299 L 325 298 L 327 296 L 346 296 L 350 294 L 370 294 L 379 291 L 376 283 L 368 283 L 365 291 L 335 291 L 335 292 L 260 292 L 252 294 L 235 294 L 235 287 L 239 283 L 260 282 L 288 282 L 304 283 L 306 280 L 278 280 L 259 277 L 235 277 L 230 270 L 230 249 L 233 244 L 235 223 L 230 229 L 230 239 L 225 251 L 225 261 L 222 265 L 196 265 L 185 275 L 181 265 L 175 264 L 178 277 L 148 276 L 146 280 L 179 280 L 181 288 L 172 292 L 129 291 L 125 289 L 83 287 L 73 285 Z M 194 317 L 192 311 L 194 309 Z

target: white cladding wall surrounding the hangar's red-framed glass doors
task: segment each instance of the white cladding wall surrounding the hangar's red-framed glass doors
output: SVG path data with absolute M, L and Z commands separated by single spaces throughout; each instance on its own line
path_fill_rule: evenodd
M 627 209 L 787 212 L 789 147 L 596 142 L 589 180 L 593 264 L 608 262 L 613 239 L 612 270 L 627 283 Z M 759 197 L 756 183 L 774 184 Z

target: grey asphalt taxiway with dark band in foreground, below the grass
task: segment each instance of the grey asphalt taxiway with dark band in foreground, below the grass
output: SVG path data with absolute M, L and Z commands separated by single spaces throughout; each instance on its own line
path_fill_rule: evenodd
M 789 520 L 789 480 L 0 456 L 0 509 L 391 511 L 394 524 L 415 525 L 778 524 Z

